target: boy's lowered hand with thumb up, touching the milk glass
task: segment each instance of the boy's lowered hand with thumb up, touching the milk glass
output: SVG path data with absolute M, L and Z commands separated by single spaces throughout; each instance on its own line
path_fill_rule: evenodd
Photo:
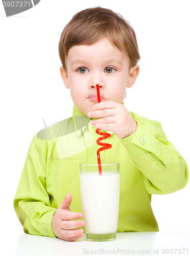
M 82 218 L 80 212 L 70 211 L 71 202 L 72 194 L 67 193 L 52 219 L 52 229 L 56 237 L 66 241 L 76 241 L 81 238 L 84 230 L 82 228 L 74 228 L 85 225 L 83 220 L 70 221 Z

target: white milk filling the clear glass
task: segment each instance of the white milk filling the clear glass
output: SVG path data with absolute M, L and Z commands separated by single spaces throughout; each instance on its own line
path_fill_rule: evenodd
M 117 230 L 120 174 L 80 175 L 85 232 L 106 234 Z

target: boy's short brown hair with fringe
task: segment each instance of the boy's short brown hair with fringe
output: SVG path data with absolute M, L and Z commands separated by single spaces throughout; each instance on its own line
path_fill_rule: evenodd
M 113 46 L 125 51 L 130 58 L 130 68 L 140 59 L 135 32 L 122 15 L 100 6 L 75 14 L 65 26 L 59 41 L 59 57 L 66 71 L 65 59 L 70 48 L 92 45 L 106 37 Z

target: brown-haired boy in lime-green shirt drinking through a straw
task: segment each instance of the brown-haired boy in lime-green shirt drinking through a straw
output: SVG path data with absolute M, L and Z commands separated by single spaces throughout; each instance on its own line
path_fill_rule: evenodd
M 132 27 L 111 10 L 83 10 L 64 28 L 59 56 L 73 116 L 41 130 L 31 142 L 14 200 L 24 231 L 66 241 L 82 237 L 79 164 L 97 162 L 97 127 L 111 134 L 103 142 L 112 148 L 100 153 L 101 161 L 120 163 L 117 232 L 158 231 L 151 194 L 185 187 L 188 168 L 159 122 L 124 106 L 126 87 L 139 73 Z

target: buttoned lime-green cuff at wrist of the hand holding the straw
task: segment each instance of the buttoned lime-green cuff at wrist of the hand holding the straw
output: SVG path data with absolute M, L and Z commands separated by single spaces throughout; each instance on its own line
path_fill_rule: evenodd
M 151 152 L 155 140 L 154 134 L 148 128 L 140 124 L 137 120 L 135 121 L 138 124 L 136 132 L 126 138 L 120 139 L 131 156 L 138 156 L 146 151 Z

